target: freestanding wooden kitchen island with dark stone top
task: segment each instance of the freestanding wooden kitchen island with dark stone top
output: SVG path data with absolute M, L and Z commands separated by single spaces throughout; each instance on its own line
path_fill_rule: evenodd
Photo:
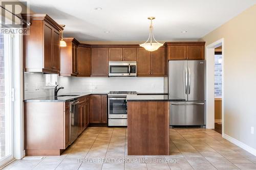
M 127 95 L 128 155 L 169 154 L 168 95 Z

